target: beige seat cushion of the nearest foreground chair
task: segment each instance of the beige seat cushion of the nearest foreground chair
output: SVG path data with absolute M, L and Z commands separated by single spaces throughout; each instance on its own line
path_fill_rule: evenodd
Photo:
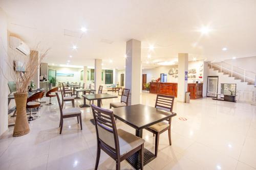
M 137 137 L 122 129 L 118 129 L 117 134 L 119 139 L 120 155 L 124 155 L 127 152 L 132 151 L 133 149 L 139 147 L 139 145 L 145 142 L 144 139 Z

